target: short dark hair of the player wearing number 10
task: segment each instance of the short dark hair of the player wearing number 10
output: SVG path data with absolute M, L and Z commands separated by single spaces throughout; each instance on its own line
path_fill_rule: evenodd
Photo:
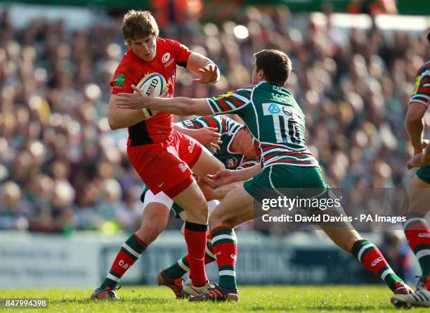
M 271 84 L 284 86 L 292 70 L 291 60 L 279 50 L 261 50 L 254 53 L 256 70 L 263 70 L 264 79 Z

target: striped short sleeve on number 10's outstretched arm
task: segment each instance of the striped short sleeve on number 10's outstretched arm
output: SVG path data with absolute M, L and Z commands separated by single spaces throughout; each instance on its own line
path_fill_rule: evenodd
M 223 113 L 239 113 L 251 103 L 251 88 L 228 91 L 221 96 L 206 98 L 207 104 L 214 115 Z

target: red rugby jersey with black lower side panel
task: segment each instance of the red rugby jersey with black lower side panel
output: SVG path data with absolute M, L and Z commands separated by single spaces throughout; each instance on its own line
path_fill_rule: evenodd
M 169 87 L 169 96 L 174 95 L 176 65 L 187 66 L 191 51 L 176 40 L 157 39 L 157 53 L 154 60 L 142 60 L 131 49 L 126 51 L 110 81 L 112 94 L 132 93 L 131 85 L 138 84 L 146 75 L 157 72 L 164 76 Z M 173 115 L 157 113 L 149 120 L 144 120 L 129 127 L 129 146 L 141 146 L 164 141 L 173 129 Z

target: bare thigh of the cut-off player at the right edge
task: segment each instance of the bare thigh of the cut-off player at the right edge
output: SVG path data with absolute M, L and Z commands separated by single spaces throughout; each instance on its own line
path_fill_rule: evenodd
M 425 172 L 419 172 L 420 170 L 422 169 L 417 171 L 408 187 L 408 213 L 425 215 L 430 210 L 430 167 Z

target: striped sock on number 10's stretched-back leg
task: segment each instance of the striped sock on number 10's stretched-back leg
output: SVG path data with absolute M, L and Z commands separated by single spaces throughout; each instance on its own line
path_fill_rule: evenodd
M 351 252 L 357 257 L 361 264 L 363 264 L 363 267 L 376 276 L 381 277 L 392 291 L 396 290 L 396 283 L 398 281 L 403 282 L 403 280 L 394 273 L 388 262 L 386 262 L 381 251 L 370 241 L 364 239 L 356 241 Z

